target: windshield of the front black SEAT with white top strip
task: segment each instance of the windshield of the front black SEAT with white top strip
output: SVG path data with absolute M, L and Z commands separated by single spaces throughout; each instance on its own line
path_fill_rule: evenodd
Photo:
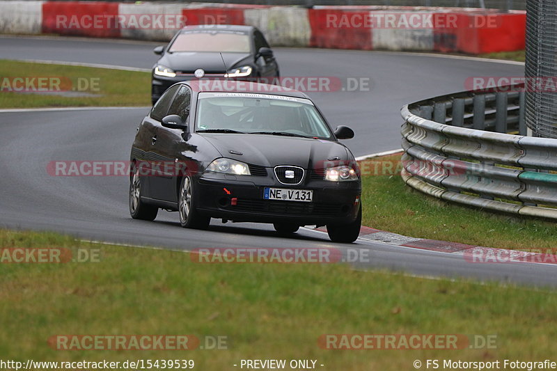
M 200 93 L 197 132 L 332 139 L 311 100 L 252 93 Z

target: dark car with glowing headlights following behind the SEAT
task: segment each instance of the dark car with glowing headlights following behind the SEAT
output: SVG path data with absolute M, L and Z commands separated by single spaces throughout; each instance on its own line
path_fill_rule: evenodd
M 153 104 L 178 81 L 279 77 L 272 49 L 253 26 L 187 26 L 166 47 L 155 47 L 153 52 L 161 55 L 152 68 Z

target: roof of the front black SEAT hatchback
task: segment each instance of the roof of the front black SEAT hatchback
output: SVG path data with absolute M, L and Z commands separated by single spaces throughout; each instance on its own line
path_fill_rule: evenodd
M 189 80 L 182 81 L 180 84 L 189 85 L 191 87 L 191 90 L 194 90 L 197 93 L 253 93 L 284 95 L 287 97 L 310 99 L 306 94 L 302 93 L 299 90 L 278 85 L 262 84 L 253 81 Z

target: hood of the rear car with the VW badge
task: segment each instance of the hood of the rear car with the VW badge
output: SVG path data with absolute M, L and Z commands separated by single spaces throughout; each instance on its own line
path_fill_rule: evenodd
M 175 52 L 166 53 L 159 59 L 157 64 L 164 65 L 180 72 L 194 72 L 198 68 L 203 68 L 205 72 L 225 72 L 224 63 L 226 68 L 230 69 L 236 67 L 244 61 L 247 63 L 250 54 L 244 53 L 223 53 L 222 58 L 219 53 L 208 52 Z

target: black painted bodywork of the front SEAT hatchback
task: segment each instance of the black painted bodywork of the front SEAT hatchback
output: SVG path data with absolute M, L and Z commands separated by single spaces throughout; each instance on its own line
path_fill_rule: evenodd
M 324 161 L 335 159 L 343 164 L 354 163 L 350 150 L 334 135 L 332 140 L 324 141 L 264 134 L 197 133 L 194 122 L 196 104 L 198 93 L 203 90 L 197 83 L 182 81 L 176 84 L 191 90 L 187 128 L 163 127 L 150 113 L 139 125 L 132 145 L 132 162 L 164 161 L 165 164 L 180 164 L 180 170 L 185 167 L 199 190 L 198 212 L 213 218 L 297 223 L 300 226 L 345 224 L 356 219 L 359 204 L 355 201 L 361 195 L 361 181 L 331 182 L 323 179 Z M 230 83 L 235 84 L 234 81 Z M 229 89 L 230 85 L 227 93 Z M 309 99 L 297 90 L 274 91 L 272 94 Z M 205 172 L 205 168 L 219 157 L 249 164 L 254 175 Z M 278 182 L 274 166 L 281 165 L 304 168 L 301 184 L 291 186 Z M 168 168 L 155 170 L 149 176 L 141 177 L 141 200 L 166 210 L 178 210 L 178 193 L 184 172 Z M 313 202 L 264 200 L 264 187 L 312 189 Z M 236 205 L 230 202 L 232 198 L 237 199 Z

